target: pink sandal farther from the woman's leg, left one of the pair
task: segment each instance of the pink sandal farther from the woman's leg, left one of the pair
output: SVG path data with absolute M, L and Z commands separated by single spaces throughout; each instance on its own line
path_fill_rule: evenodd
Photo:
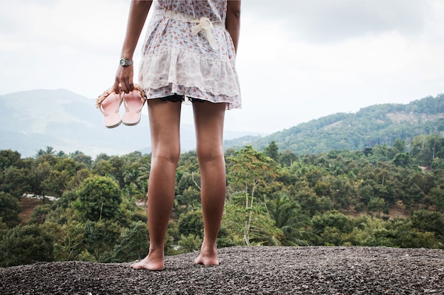
M 118 109 L 122 104 L 121 93 L 114 93 L 113 88 L 109 88 L 96 100 L 96 107 L 104 114 L 104 125 L 106 128 L 114 128 L 121 125 L 121 115 Z

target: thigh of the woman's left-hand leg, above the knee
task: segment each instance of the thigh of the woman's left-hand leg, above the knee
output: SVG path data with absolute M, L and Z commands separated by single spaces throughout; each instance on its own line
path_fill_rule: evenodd
M 152 156 L 179 156 L 181 106 L 170 100 L 148 100 Z

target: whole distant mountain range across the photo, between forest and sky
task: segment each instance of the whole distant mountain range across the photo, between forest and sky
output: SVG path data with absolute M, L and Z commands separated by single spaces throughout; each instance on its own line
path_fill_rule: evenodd
M 33 90 L 0 96 L 0 149 L 34 156 L 52 146 L 56 151 L 101 153 L 150 152 L 148 116 L 139 125 L 107 129 L 95 100 L 64 89 Z M 195 149 L 194 127 L 181 125 L 182 152 Z M 336 113 L 261 137 L 260 132 L 226 131 L 225 148 L 252 145 L 262 150 L 275 141 L 279 150 L 318 154 L 331 150 L 362 150 L 375 144 L 406 144 L 419 134 L 444 134 L 444 95 L 409 104 L 382 104 L 355 113 Z

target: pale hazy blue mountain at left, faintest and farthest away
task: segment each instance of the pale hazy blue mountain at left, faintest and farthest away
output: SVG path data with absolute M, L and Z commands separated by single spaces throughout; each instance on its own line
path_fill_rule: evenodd
M 95 100 L 64 89 L 33 90 L 0 96 L 0 149 L 12 149 L 22 157 L 39 149 L 82 151 L 89 156 L 101 153 L 150 152 L 148 115 L 136 126 L 107 129 Z M 123 108 L 122 108 L 123 109 Z M 196 148 L 194 126 L 181 126 L 182 152 Z M 229 132 L 227 139 L 251 132 Z

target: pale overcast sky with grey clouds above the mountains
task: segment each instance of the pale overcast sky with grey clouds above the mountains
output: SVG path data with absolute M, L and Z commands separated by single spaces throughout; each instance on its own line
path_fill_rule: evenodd
M 129 5 L 0 0 L 0 95 L 65 88 L 95 99 L 113 84 Z M 443 16 L 444 0 L 243 0 L 243 108 L 226 112 L 225 128 L 271 134 L 443 93 Z M 182 122 L 192 124 L 188 105 Z

